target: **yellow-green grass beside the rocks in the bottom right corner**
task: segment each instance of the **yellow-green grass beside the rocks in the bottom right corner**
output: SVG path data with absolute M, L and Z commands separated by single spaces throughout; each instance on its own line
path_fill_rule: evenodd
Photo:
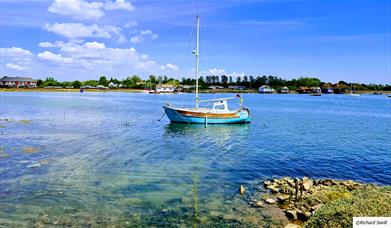
M 305 227 L 352 227 L 353 217 L 390 216 L 391 186 L 365 186 L 351 193 L 331 191 L 326 201 Z

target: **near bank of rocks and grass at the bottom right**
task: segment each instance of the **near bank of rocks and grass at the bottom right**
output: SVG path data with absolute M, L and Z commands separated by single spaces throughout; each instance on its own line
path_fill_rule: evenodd
M 353 217 L 391 215 L 391 186 L 284 177 L 253 187 L 246 195 L 248 204 L 284 213 L 290 222 L 286 227 L 351 227 Z

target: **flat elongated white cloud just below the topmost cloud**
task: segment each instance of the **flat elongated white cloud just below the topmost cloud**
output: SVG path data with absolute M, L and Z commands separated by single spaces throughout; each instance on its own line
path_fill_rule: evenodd
M 121 33 L 121 28 L 111 25 L 99 27 L 97 24 L 84 25 L 82 23 L 46 23 L 44 28 L 47 31 L 68 38 L 100 37 L 109 39 L 113 36 L 118 36 L 120 39 L 126 39 Z

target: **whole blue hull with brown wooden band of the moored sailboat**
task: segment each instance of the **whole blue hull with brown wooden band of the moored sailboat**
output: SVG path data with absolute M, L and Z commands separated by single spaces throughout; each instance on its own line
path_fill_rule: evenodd
M 243 124 L 250 123 L 250 114 L 247 109 L 239 109 L 233 113 L 202 113 L 178 109 L 170 105 L 163 106 L 171 122 L 194 124 Z

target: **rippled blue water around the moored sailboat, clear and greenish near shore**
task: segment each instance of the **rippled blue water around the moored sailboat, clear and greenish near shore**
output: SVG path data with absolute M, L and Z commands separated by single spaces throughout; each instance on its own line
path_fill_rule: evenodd
M 254 180 L 391 184 L 386 96 L 243 96 L 251 124 L 205 128 L 158 121 L 192 94 L 0 93 L 0 225 L 254 225 Z

